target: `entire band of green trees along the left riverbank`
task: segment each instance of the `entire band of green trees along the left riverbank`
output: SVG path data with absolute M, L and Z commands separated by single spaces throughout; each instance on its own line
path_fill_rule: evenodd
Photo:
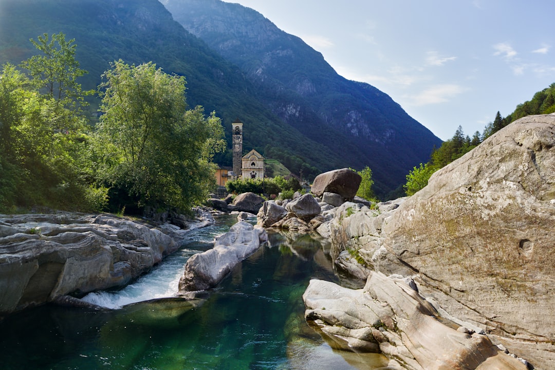
M 224 133 L 214 112 L 187 108 L 184 77 L 118 60 L 83 90 L 74 39 L 31 42 L 37 55 L 0 72 L 1 212 L 186 211 L 205 199 Z M 94 94 L 97 120 L 83 109 Z

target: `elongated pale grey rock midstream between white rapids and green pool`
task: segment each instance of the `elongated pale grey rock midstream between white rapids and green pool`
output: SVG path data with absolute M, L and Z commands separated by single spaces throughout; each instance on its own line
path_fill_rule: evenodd
M 179 293 L 213 288 L 239 262 L 253 254 L 268 240 L 266 231 L 240 221 L 214 242 L 208 251 L 197 253 L 187 260 L 179 281 Z

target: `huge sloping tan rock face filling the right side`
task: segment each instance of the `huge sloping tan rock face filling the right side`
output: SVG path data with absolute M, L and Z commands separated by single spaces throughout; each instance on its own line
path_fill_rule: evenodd
M 416 276 L 446 313 L 555 368 L 555 115 L 514 121 L 380 209 L 336 213 L 332 250 Z

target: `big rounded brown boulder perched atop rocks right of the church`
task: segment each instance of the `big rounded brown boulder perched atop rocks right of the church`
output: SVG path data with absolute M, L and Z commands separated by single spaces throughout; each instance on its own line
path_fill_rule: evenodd
M 333 170 L 316 176 L 311 192 L 317 197 L 323 196 L 324 192 L 335 192 L 345 200 L 352 200 L 361 181 L 361 176 L 348 168 Z

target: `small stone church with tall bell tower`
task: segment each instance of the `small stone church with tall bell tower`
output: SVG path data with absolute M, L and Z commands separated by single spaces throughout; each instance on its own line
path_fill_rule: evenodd
M 236 119 L 231 129 L 234 179 L 264 179 L 264 157 L 254 149 L 243 155 L 243 123 Z

